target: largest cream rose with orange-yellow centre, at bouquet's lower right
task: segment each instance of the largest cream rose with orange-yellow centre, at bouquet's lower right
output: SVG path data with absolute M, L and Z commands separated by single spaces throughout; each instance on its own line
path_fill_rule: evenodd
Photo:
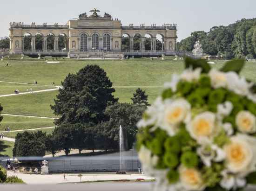
M 246 176 L 256 170 L 256 138 L 245 134 L 231 137 L 230 143 L 224 146 L 226 164 L 229 172 Z

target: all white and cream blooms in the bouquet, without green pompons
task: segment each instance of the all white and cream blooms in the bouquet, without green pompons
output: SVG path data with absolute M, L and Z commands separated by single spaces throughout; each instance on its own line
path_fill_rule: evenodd
M 246 96 L 256 102 L 256 95 L 250 93 L 252 84 L 235 72 L 221 72 L 215 69 L 207 74 L 211 80 L 211 88 L 224 88 Z M 187 69 L 180 76 L 174 75 L 170 83 L 165 83 L 166 89 L 177 91 L 177 84 L 182 81 L 196 82 L 201 77 L 201 69 Z M 221 172 L 222 180 L 219 185 L 226 190 L 242 188 L 246 185 L 245 177 L 251 172 L 256 172 L 256 138 L 251 134 L 256 133 L 256 116 L 247 110 L 240 111 L 235 117 L 235 127 L 229 122 L 224 123 L 223 118 L 229 116 L 233 110 L 233 104 L 229 101 L 217 105 L 217 112 L 204 110 L 195 113 L 191 104 L 184 98 L 174 96 L 163 100 L 158 97 L 150 106 L 147 118 L 138 122 L 138 127 L 152 126 L 151 132 L 161 128 L 169 137 L 179 131 L 181 124 L 185 124 L 189 135 L 197 143 L 196 154 L 202 163 L 210 167 L 213 162 L 221 162 L 224 170 Z M 229 137 L 228 143 L 217 146 L 214 143 L 216 136 L 224 132 Z M 166 170 L 155 168 L 158 156 L 154 155 L 146 146 L 141 146 L 139 158 L 144 171 L 156 178 L 166 178 Z M 205 185 L 201 169 L 187 168 L 180 165 L 178 168 L 179 181 L 173 185 L 174 190 L 203 191 Z M 162 174 L 162 175 L 161 175 Z M 167 183 L 167 181 L 164 181 Z

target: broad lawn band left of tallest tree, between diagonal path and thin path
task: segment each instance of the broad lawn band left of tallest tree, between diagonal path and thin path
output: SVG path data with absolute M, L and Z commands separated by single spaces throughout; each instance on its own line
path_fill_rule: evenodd
M 2 113 L 40 117 L 56 117 L 50 108 L 58 91 L 41 92 L 20 96 L 0 97 Z

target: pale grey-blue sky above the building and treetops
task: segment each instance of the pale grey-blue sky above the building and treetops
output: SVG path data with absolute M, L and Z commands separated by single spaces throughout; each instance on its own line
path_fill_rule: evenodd
M 96 7 L 119 18 L 123 25 L 175 23 L 178 41 L 191 32 L 229 25 L 256 17 L 256 0 L 0 0 L 0 37 L 8 36 L 10 22 L 66 24 Z

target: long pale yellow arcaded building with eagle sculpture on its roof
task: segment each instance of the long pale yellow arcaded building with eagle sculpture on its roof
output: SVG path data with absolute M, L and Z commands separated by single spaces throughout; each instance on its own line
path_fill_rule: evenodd
M 66 25 L 25 25 L 10 23 L 10 53 L 25 55 L 56 55 L 68 57 L 91 57 L 117 55 L 150 56 L 175 55 L 177 29 L 176 25 L 157 26 L 123 26 L 119 19 L 113 19 L 105 13 L 101 17 L 97 9 L 79 15 L 79 19 L 68 20 Z M 161 38 L 162 47 L 157 50 L 157 35 Z M 39 37 L 40 36 L 40 37 Z M 29 37 L 29 45 L 27 38 Z M 49 47 L 52 39 L 51 47 Z M 62 37 L 62 38 L 61 38 Z M 128 48 L 123 48 L 123 37 L 129 38 Z M 147 37 L 147 38 L 146 38 Z M 60 38 L 65 39 L 60 46 Z M 139 41 L 138 41 L 139 38 Z M 136 43 L 139 45 L 135 46 Z M 150 48 L 145 49 L 145 40 L 149 39 Z M 41 42 L 39 42 L 41 41 Z

